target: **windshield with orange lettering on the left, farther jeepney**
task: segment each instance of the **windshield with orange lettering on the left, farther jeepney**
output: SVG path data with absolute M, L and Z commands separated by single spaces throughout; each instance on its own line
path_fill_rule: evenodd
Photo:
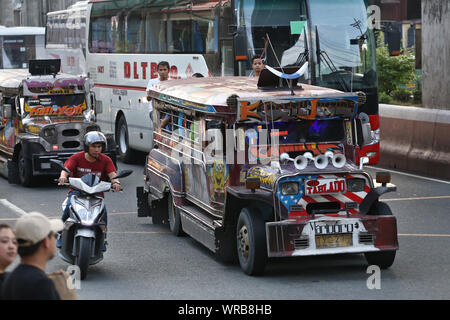
M 58 94 L 26 97 L 23 118 L 80 118 L 89 112 L 84 94 Z

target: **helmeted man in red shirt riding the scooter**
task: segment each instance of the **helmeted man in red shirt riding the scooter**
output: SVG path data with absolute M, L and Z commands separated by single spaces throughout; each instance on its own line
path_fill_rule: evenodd
M 116 179 L 117 170 L 114 166 L 113 161 L 110 157 L 103 154 L 102 151 L 106 149 L 106 137 L 103 133 L 99 131 L 90 131 L 86 133 L 84 136 L 84 151 L 78 152 L 72 155 L 67 161 L 64 163 L 64 166 L 69 169 L 71 172 L 71 176 L 74 178 L 81 178 L 82 176 L 90 173 L 94 173 L 101 180 L 105 181 L 107 178 L 111 181 L 111 187 L 113 191 L 120 191 L 120 181 Z M 60 177 L 58 179 L 58 184 L 63 185 L 67 183 L 69 177 L 69 173 L 62 170 Z M 80 191 L 70 189 L 67 195 L 67 204 L 66 208 L 63 211 L 63 215 L 61 217 L 62 221 L 65 222 L 70 216 L 70 199 L 74 195 L 79 195 Z M 100 194 L 102 197 L 104 194 Z M 108 224 L 106 208 L 105 208 L 105 238 L 106 238 L 106 225 Z M 59 237 L 56 246 L 61 248 L 62 239 Z M 106 244 L 103 246 L 103 251 L 106 251 Z

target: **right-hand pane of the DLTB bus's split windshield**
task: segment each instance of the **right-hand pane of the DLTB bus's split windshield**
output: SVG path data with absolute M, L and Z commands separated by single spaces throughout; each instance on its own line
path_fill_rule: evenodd
M 375 87 L 375 40 L 368 27 L 364 1 L 314 0 L 309 3 L 321 51 L 320 63 L 317 57 L 315 83 L 343 91 Z

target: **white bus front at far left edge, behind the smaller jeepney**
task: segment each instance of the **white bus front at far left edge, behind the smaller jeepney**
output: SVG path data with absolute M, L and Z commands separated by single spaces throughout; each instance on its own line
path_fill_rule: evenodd
M 28 61 L 45 57 L 45 29 L 0 26 L 0 69 L 28 69 Z

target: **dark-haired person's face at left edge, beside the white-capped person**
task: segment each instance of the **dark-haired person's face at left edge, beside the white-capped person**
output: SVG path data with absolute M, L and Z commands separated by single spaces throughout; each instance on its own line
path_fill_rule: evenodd
M 0 293 L 3 281 L 9 272 L 6 268 L 17 256 L 17 240 L 13 229 L 7 224 L 0 224 Z

